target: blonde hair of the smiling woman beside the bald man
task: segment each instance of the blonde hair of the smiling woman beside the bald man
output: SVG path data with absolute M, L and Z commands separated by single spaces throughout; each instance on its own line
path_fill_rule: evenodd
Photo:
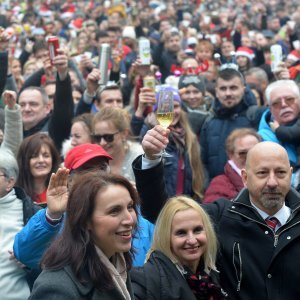
M 186 196 L 177 196 L 170 198 L 161 210 L 154 230 L 153 243 L 147 253 L 146 261 L 153 251 L 161 251 L 169 257 L 173 263 L 180 263 L 171 249 L 171 230 L 172 222 L 176 213 L 193 209 L 202 219 L 205 230 L 207 245 L 203 254 L 204 270 L 209 273 L 210 270 L 216 270 L 217 255 L 217 237 L 212 222 L 204 209 L 193 199 Z

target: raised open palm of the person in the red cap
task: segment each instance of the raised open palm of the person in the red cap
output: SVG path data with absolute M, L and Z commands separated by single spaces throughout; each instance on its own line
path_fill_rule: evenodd
M 68 192 L 69 170 L 59 168 L 53 173 L 47 189 L 47 214 L 52 219 L 59 219 L 66 210 Z

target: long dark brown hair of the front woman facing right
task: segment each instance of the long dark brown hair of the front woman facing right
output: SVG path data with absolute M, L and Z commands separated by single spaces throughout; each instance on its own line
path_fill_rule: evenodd
M 124 177 L 113 174 L 79 176 L 72 186 L 66 209 L 67 218 L 61 235 L 52 243 L 42 259 L 42 267 L 59 270 L 70 265 L 81 283 L 91 282 L 98 290 L 113 288 L 111 275 L 101 262 L 92 239 L 88 222 L 92 218 L 99 191 L 110 185 L 126 188 L 137 214 L 137 191 Z M 124 253 L 127 270 L 132 266 L 132 251 Z

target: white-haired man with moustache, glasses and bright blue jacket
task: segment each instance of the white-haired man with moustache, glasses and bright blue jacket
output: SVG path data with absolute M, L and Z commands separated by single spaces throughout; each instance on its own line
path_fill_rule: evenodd
M 278 139 L 273 124 L 277 122 L 279 126 L 291 126 L 296 122 L 300 113 L 299 88 L 292 80 L 278 80 L 268 85 L 265 96 L 269 109 L 262 115 L 258 133 L 264 141 L 282 145 L 288 153 L 291 165 L 295 167 L 298 165 L 296 147 Z M 296 185 L 296 182 L 293 182 L 293 185 Z

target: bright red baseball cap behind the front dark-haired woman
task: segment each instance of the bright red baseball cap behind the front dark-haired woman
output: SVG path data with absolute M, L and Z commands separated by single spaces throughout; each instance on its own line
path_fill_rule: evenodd
M 64 165 L 69 170 L 75 170 L 95 157 L 112 159 L 101 146 L 97 144 L 82 144 L 74 147 L 67 153 Z

